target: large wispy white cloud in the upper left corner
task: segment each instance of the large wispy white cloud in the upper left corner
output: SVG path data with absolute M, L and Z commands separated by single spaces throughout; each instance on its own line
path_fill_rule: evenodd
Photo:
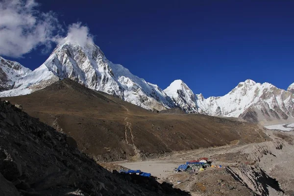
M 0 55 L 21 57 L 40 45 L 49 49 L 58 39 L 56 15 L 40 12 L 37 6 L 34 0 L 0 1 Z

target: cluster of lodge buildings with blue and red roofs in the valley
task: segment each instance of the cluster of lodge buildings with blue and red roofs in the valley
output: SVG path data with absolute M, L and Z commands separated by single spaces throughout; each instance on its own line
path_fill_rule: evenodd
M 175 168 L 174 172 L 198 172 L 203 171 L 207 167 L 212 167 L 211 161 L 208 161 L 208 158 L 206 157 L 202 157 L 198 160 L 187 161 L 186 164 L 180 165 L 178 168 Z

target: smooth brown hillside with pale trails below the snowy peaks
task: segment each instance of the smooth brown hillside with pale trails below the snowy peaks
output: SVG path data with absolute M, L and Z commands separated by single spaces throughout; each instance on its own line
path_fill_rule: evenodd
M 30 95 L 4 99 L 71 135 L 81 151 L 98 160 L 267 139 L 256 124 L 205 115 L 157 114 L 70 79 Z

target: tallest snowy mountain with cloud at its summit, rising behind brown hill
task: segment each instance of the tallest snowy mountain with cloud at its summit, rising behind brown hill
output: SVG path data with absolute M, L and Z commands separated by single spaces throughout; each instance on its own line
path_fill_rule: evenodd
M 103 91 L 146 109 L 162 110 L 174 103 L 157 85 L 146 82 L 120 64 L 106 59 L 98 46 L 66 42 L 58 45 L 39 68 L 18 79 L 13 89 L 0 97 L 18 96 L 70 78 L 86 87 Z

